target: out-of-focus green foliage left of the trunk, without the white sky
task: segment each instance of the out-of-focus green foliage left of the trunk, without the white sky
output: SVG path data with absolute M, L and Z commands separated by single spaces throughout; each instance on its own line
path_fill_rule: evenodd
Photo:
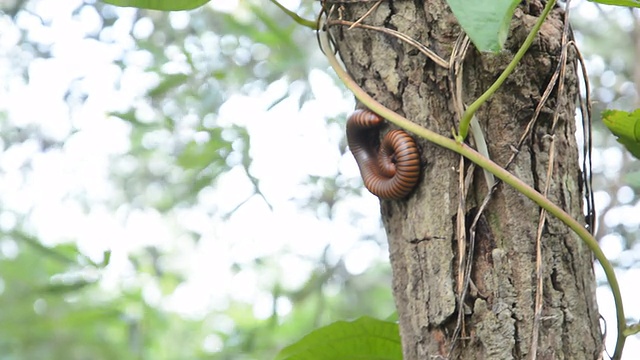
M 241 125 L 220 123 L 218 110 L 232 94 L 258 95 L 283 81 L 295 85 L 266 103 L 265 110 L 289 98 L 303 106 L 313 97 L 310 55 L 316 52 L 312 32 L 267 4 L 243 2 L 233 13 L 203 7 L 177 15 L 79 1 L 68 8 L 76 19 L 86 13 L 98 15 L 94 20 L 99 28 L 88 31 L 86 39 L 120 46 L 114 62 L 120 69 L 116 88 L 130 86 L 127 76 L 132 69 L 144 75 L 134 79 L 151 83 L 139 97 L 110 112 L 110 121 L 127 129 L 129 143 L 126 152 L 109 158 L 111 187 L 109 196 L 101 199 L 103 205 L 125 219 L 136 209 L 149 208 L 175 218 L 176 209 L 197 206 L 221 174 L 238 168 L 260 195 L 260 179 L 252 174 L 249 133 Z M 18 77 L 29 84 L 32 61 L 59 55 L 56 45 L 38 40 L 41 33 L 30 25 L 34 20 L 41 20 L 39 26 L 45 29 L 55 25 L 54 19 L 40 17 L 46 10 L 42 6 L 42 1 L 33 0 L 0 7 L 3 26 L 17 29 L 21 38 L 17 47 L 2 53 L 3 61 L 11 63 L 11 72 L 3 74 L 8 79 Z M 316 7 L 306 2 L 296 10 L 313 17 Z M 122 28 L 130 29 L 126 39 L 116 34 Z M 70 113 L 91 99 L 92 89 L 83 81 L 77 79 L 65 91 Z M 64 151 L 69 139 L 83 131 L 72 127 L 67 136 L 56 137 L 37 123 L 20 126 L 12 123 L 8 104 L 2 105 L 5 154 L 26 142 L 35 142 L 39 152 Z M 22 180 L 31 176 L 32 161 L 25 159 L 20 168 Z M 317 213 L 324 218 L 333 216 L 334 206 L 345 194 L 360 192 L 359 184 L 342 176 L 310 174 L 301 185 L 306 190 L 294 203 L 312 213 L 324 209 Z M 98 206 L 82 192 L 72 198 L 83 204 L 85 212 Z M 317 326 L 393 312 L 387 264 L 374 262 L 368 271 L 354 276 L 328 248 L 317 259 L 304 259 L 316 265 L 299 286 L 280 283 L 278 275 L 260 285 L 272 303 L 266 318 L 255 315 L 255 304 L 237 300 L 195 315 L 188 309 L 170 310 L 171 297 L 190 277 L 171 266 L 170 259 L 176 256 L 171 249 L 152 244 L 131 251 L 124 274 L 114 282 L 112 272 L 123 266 L 122 259 L 113 261 L 109 251 L 102 257 L 87 256 L 73 238 L 62 244 L 42 243 L 30 224 L 29 211 L 0 208 L 4 215 L 0 218 L 0 359 L 264 359 Z M 219 212 L 204 211 L 212 217 Z M 374 231 L 380 231 L 379 225 Z M 178 233 L 188 234 L 180 241 L 193 242 L 183 247 L 197 247 L 201 236 L 197 231 Z M 232 261 L 230 270 L 238 277 L 269 273 L 279 256 Z M 279 310 L 282 304 L 291 310 Z

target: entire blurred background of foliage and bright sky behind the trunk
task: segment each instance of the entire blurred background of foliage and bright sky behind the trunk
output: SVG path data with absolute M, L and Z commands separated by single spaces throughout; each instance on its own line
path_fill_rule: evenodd
M 599 114 L 639 107 L 640 13 L 571 8 L 597 237 L 637 322 L 640 161 Z M 267 0 L 2 0 L 0 359 L 269 359 L 318 326 L 393 314 L 378 200 L 345 152 L 353 107 L 314 33 Z

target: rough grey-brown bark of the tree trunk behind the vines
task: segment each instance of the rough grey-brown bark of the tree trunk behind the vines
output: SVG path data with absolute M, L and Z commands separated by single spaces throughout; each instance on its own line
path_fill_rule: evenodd
M 360 18 L 372 3 L 341 4 L 334 18 Z M 506 50 L 498 55 L 469 50 L 464 65 L 464 101 L 487 89 L 511 60 L 543 7 L 521 5 L 512 21 Z M 523 134 L 556 68 L 564 13 L 555 9 L 531 49 L 502 89 L 478 113 L 491 158 L 505 164 Z M 460 29 L 444 0 L 391 0 L 364 24 L 398 30 L 448 59 Z M 411 46 L 372 30 L 333 26 L 340 56 L 354 79 L 394 111 L 443 135 L 457 125 L 448 70 Z M 572 57 L 571 52 L 569 53 Z M 578 151 L 574 139 L 577 80 L 570 60 L 555 129 L 556 160 L 549 198 L 576 219 L 584 219 Z M 509 170 L 539 191 L 549 161 L 552 113 L 557 89 L 535 130 Z M 531 355 L 534 326 L 535 235 L 540 209 L 515 189 L 499 185 L 477 231 L 472 280 L 475 296 L 465 300 L 465 338 L 450 353 L 456 327 L 459 157 L 425 141 L 424 170 L 406 201 L 382 202 L 390 244 L 393 291 L 400 316 L 405 359 L 523 359 Z M 481 173 L 467 198 L 473 215 L 486 193 Z M 596 359 L 602 340 L 595 302 L 590 251 L 549 216 L 542 238 L 542 320 L 539 359 Z

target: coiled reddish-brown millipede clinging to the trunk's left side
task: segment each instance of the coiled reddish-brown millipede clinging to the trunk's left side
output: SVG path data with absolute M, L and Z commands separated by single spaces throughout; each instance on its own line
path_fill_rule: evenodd
M 403 130 L 389 131 L 378 146 L 382 121 L 370 110 L 354 111 L 347 120 L 347 142 L 364 186 L 381 199 L 402 199 L 418 183 L 420 153 Z

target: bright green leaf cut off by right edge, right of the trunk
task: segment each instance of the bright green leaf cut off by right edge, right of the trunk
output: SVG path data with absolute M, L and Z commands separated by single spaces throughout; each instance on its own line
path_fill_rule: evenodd
M 640 159 L 640 109 L 633 112 L 605 110 L 602 122 L 631 155 Z

